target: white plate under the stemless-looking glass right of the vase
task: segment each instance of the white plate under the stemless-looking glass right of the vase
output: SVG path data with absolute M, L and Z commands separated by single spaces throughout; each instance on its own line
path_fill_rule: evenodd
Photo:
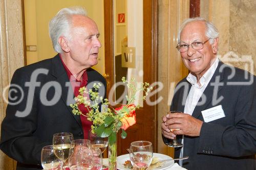
M 154 157 L 159 158 L 159 160 L 173 159 L 172 157 L 169 157 L 169 156 L 163 155 L 163 154 L 158 154 L 158 153 L 154 153 L 153 158 Z M 123 164 L 126 160 L 130 160 L 129 154 L 118 156 L 117 160 L 116 160 L 117 161 L 117 169 L 119 169 L 119 170 L 131 170 L 130 168 L 126 168 L 126 167 L 123 166 Z M 163 170 L 163 169 L 166 169 L 166 168 L 172 166 L 173 164 L 174 164 L 174 161 L 168 161 L 168 162 L 164 163 L 161 167 L 154 167 L 154 170 Z M 151 166 L 148 167 L 147 169 L 151 169 Z

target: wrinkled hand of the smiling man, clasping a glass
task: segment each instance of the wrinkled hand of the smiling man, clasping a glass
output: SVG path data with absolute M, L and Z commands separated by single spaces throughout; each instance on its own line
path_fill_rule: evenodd
M 167 129 L 180 129 L 174 131 L 175 135 L 188 135 L 188 136 L 199 136 L 203 122 L 189 114 L 185 113 L 169 113 L 163 117 L 162 132 L 163 129 L 165 133 L 163 135 L 170 138 L 172 135 Z M 169 130 L 170 131 L 170 130 Z M 170 138 L 172 139 L 172 138 Z

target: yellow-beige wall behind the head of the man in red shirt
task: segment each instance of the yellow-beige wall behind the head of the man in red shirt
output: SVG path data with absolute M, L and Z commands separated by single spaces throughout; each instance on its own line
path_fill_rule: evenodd
M 49 37 L 48 24 L 50 19 L 61 9 L 82 6 L 88 16 L 95 20 L 100 32 L 102 47 L 99 51 L 98 64 L 94 66 L 101 74 L 105 72 L 104 60 L 104 19 L 103 0 L 24 0 L 26 44 L 36 45 L 36 52 L 27 52 L 27 64 L 52 58 L 56 55 Z

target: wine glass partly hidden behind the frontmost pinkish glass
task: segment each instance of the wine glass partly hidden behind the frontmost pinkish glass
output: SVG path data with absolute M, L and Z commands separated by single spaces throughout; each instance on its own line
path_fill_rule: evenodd
M 88 139 L 76 139 L 71 142 L 69 150 L 69 168 L 77 170 L 77 154 L 83 148 L 91 148 L 91 142 Z

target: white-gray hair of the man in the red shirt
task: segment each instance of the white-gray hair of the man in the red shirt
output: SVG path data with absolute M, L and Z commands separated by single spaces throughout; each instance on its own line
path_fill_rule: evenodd
M 57 53 L 62 53 L 62 49 L 58 43 L 60 36 L 70 38 L 69 31 L 72 27 L 72 16 L 83 15 L 87 16 L 87 11 L 82 7 L 62 8 L 50 20 L 49 34 L 52 40 L 53 48 Z

